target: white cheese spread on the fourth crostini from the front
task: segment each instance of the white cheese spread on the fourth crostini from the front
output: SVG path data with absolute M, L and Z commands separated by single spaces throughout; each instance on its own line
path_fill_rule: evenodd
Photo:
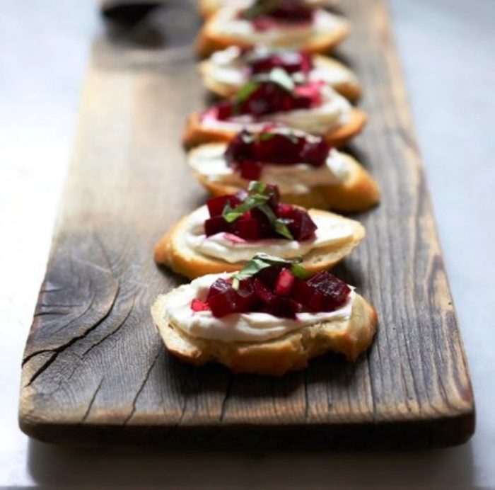
M 322 103 L 318 107 L 287 110 L 286 112 L 267 114 L 256 119 L 249 114 L 228 120 L 204 117 L 202 118 L 202 125 L 212 129 L 236 132 L 243 128 L 256 131 L 260 130 L 264 123 L 270 121 L 293 127 L 296 130 L 312 132 L 315 135 L 325 135 L 330 130 L 341 127 L 349 121 L 352 106 L 346 98 L 328 85 L 322 86 L 321 96 Z

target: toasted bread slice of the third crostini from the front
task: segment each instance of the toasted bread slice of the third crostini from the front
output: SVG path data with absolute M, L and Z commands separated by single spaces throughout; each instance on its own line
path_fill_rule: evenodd
M 191 152 L 198 150 L 192 149 Z M 345 181 L 331 186 L 315 186 L 304 194 L 282 192 L 281 200 L 302 207 L 340 212 L 361 212 L 380 203 L 380 189 L 373 177 L 352 156 L 342 152 L 340 155 L 349 164 L 349 173 Z M 212 195 L 235 194 L 240 189 L 240 186 L 210 181 L 207 176 L 197 171 L 194 171 L 194 176 Z M 245 188 L 248 184 L 249 181 L 245 181 Z

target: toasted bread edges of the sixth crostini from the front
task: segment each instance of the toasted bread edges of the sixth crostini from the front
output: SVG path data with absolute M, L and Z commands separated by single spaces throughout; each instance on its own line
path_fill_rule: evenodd
M 219 50 L 224 50 L 229 46 L 238 46 L 240 48 L 250 48 L 259 44 L 256 40 L 242 39 L 237 36 L 224 35 L 219 33 L 216 24 L 219 23 L 219 15 L 222 11 L 218 11 L 210 16 L 204 23 L 202 30 L 196 41 L 196 51 L 200 57 L 207 57 L 211 53 Z M 339 22 L 331 30 L 326 30 L 322 33 L 309 35 L 305 38 L 301 45 L 294 46 L 290 39 L 286 42 L 281 41 L 276 43 L 276 47 L 297 47 L 311 53 L 324 54 L 330 52 L 340 42 L 342 42 L 349 34 L 350 26 L 344 18 L 339 18 Z

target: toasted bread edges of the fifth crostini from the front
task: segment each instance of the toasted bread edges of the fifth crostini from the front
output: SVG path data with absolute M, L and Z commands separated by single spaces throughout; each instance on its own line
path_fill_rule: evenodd
M 363 89 L 361 88 L 359 81 L 357 81 L 354 73 L 352 73 L 349 68 L 344 66 L 344 64 L 338 62 L 336 59 L 321 55 L 313 55 L 313 63 L 315 64 L 315 67 L 329 67 L 331 69 L 349 74 L 346 81 L 337 81 L 332 83 L 330 86 L 332 86 L 332 89 L 340 93 L 341 96 L 344 96 L 351 102 L 356 102 L 359 98 L 361 98 Z M 226 84 L 216 79 L 214 76 L 214 66 L 209 59 L 199 63 L 198 68 L 199 72 L 202 74 L 203 83 L 206 86 L 206 89 L 215 93 L 217 96 L 231 97 L 240 89 L 240 85 L 238 84 Z

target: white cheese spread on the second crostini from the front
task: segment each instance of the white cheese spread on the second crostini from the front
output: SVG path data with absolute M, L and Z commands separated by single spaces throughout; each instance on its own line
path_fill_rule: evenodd
M 334 215 L 311 215 L 318 229 L 313 239 L 297 241 L 287 239 L 264 239 L 245 241 L 228 233 L 206 237 L 204 220 L 209 218 L 208 208 L 194 211 L 185 226 L 185 242 L 194 252 L 236 263 L 248 261 L 258 252 L 284 258 L 305 256 L 313 249 L 349 241 L 353 236 L 352 223 Z

